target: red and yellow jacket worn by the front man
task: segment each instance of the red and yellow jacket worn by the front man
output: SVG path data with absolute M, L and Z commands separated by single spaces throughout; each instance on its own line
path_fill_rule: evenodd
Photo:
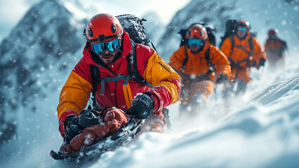
M 84 110 L 91 90 L 93 80 L 89 64 L 99 67 L 100 76 L 115 77 L 117 75 L 128 75 L 126 57 L 131 52 L 131 41 L 124 31 L 122 42 L 121 57 L 108 67 L 96 64 L 91 58 L 91 45 L 86 43 L 83 51 L 84 57 L 74 67 L 65 86 L 60 93 L 58 104 L 58 118 L 60 132 L 64 132 L 63 122 L 68 116 L 79 116 L 80 111 Z M 153 87 L 147 87 L 135 80 L 128 80 L 128 85 L 124 81 L 105 83 L 105 94 L 100 95 L 100 83 L 95 93 L 96 101 L 102 107 L 116 107 L 118 109 L 129 109 L 132 106 L 133 98 L 137 93 L 150 92 L 154 94 L 154 111 L 161 111 L 166 106 L 178 101 L 180 97 L 180 77 L 155 50 L 145 45 L 136 43 L 136 57 L 138 71 L 148 83 Z M 63 137 L 62 133 L 62 137 Z

